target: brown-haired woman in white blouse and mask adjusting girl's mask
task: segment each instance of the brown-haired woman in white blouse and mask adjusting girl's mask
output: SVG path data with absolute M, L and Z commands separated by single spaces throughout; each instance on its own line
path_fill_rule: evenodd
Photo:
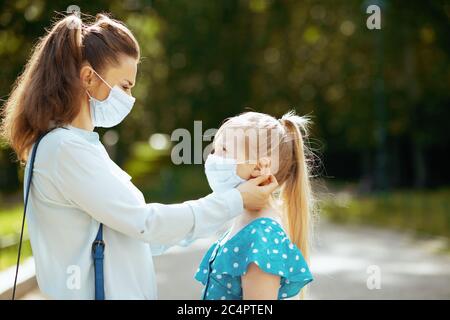
M 131 111 L 138 62 L 122 23 L 71 15 L 39 41 L 6 102 L 2 132 L 19 160 L 53 128 L 37 149 L 27 209 L 37 281 L 50 298 L 94 297 L 91 245 L 102 223 L 105 298 L 155 299 L 152 254 L 259 209 L 276 187 L 261 177 L 182 204 L 145 203 L 93 131 Z

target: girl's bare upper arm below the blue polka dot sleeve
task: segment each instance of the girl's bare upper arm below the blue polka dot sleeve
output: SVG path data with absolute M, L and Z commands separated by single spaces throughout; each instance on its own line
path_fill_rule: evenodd
M 242 296 L 244 300 L 277 300 L 280 276 L 262 271 L 256 264 L 248 266 L 242 275 Z

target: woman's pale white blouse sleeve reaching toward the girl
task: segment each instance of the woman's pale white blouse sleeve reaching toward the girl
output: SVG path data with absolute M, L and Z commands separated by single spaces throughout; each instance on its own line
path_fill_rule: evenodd
M 82 141 L 61 141 L 55 157 L 56 183 L 69 202 L 106 226 L 152 244 L 193 241 L 243 210 L 236 189 L 181 204 L 145 203 L 131 181 L 110 170 L 109 159 Z

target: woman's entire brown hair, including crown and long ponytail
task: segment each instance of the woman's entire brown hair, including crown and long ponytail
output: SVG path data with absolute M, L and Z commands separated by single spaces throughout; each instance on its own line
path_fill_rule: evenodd
M 53 25 L 34 47 L 2 111 L 1 134 L 20 161 L 39 135 L 80 112 L 81 67 L 89 63 L 102 72 L 117 65 L 120 55 L 139 60 L 139 45 L 123 23 L 104 14 L 91 24 L 70 15 Z

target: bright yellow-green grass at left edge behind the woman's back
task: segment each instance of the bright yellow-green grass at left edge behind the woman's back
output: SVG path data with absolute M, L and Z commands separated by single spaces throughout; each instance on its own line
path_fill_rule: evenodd
M 22 224 L 23 206 L 15 205 L 0 208 L 0 238 L 19 238 Z M 27 228 L 25 226 L 25 238 L 28 238 Z M 0 249 L 0 270 L 15 265 L 17 260 L 18 246 L 11 246 L 6 249 Z M 23 261 L 26 257 L 32 255 L 30 241 L 24 241 L 22 246 Z

